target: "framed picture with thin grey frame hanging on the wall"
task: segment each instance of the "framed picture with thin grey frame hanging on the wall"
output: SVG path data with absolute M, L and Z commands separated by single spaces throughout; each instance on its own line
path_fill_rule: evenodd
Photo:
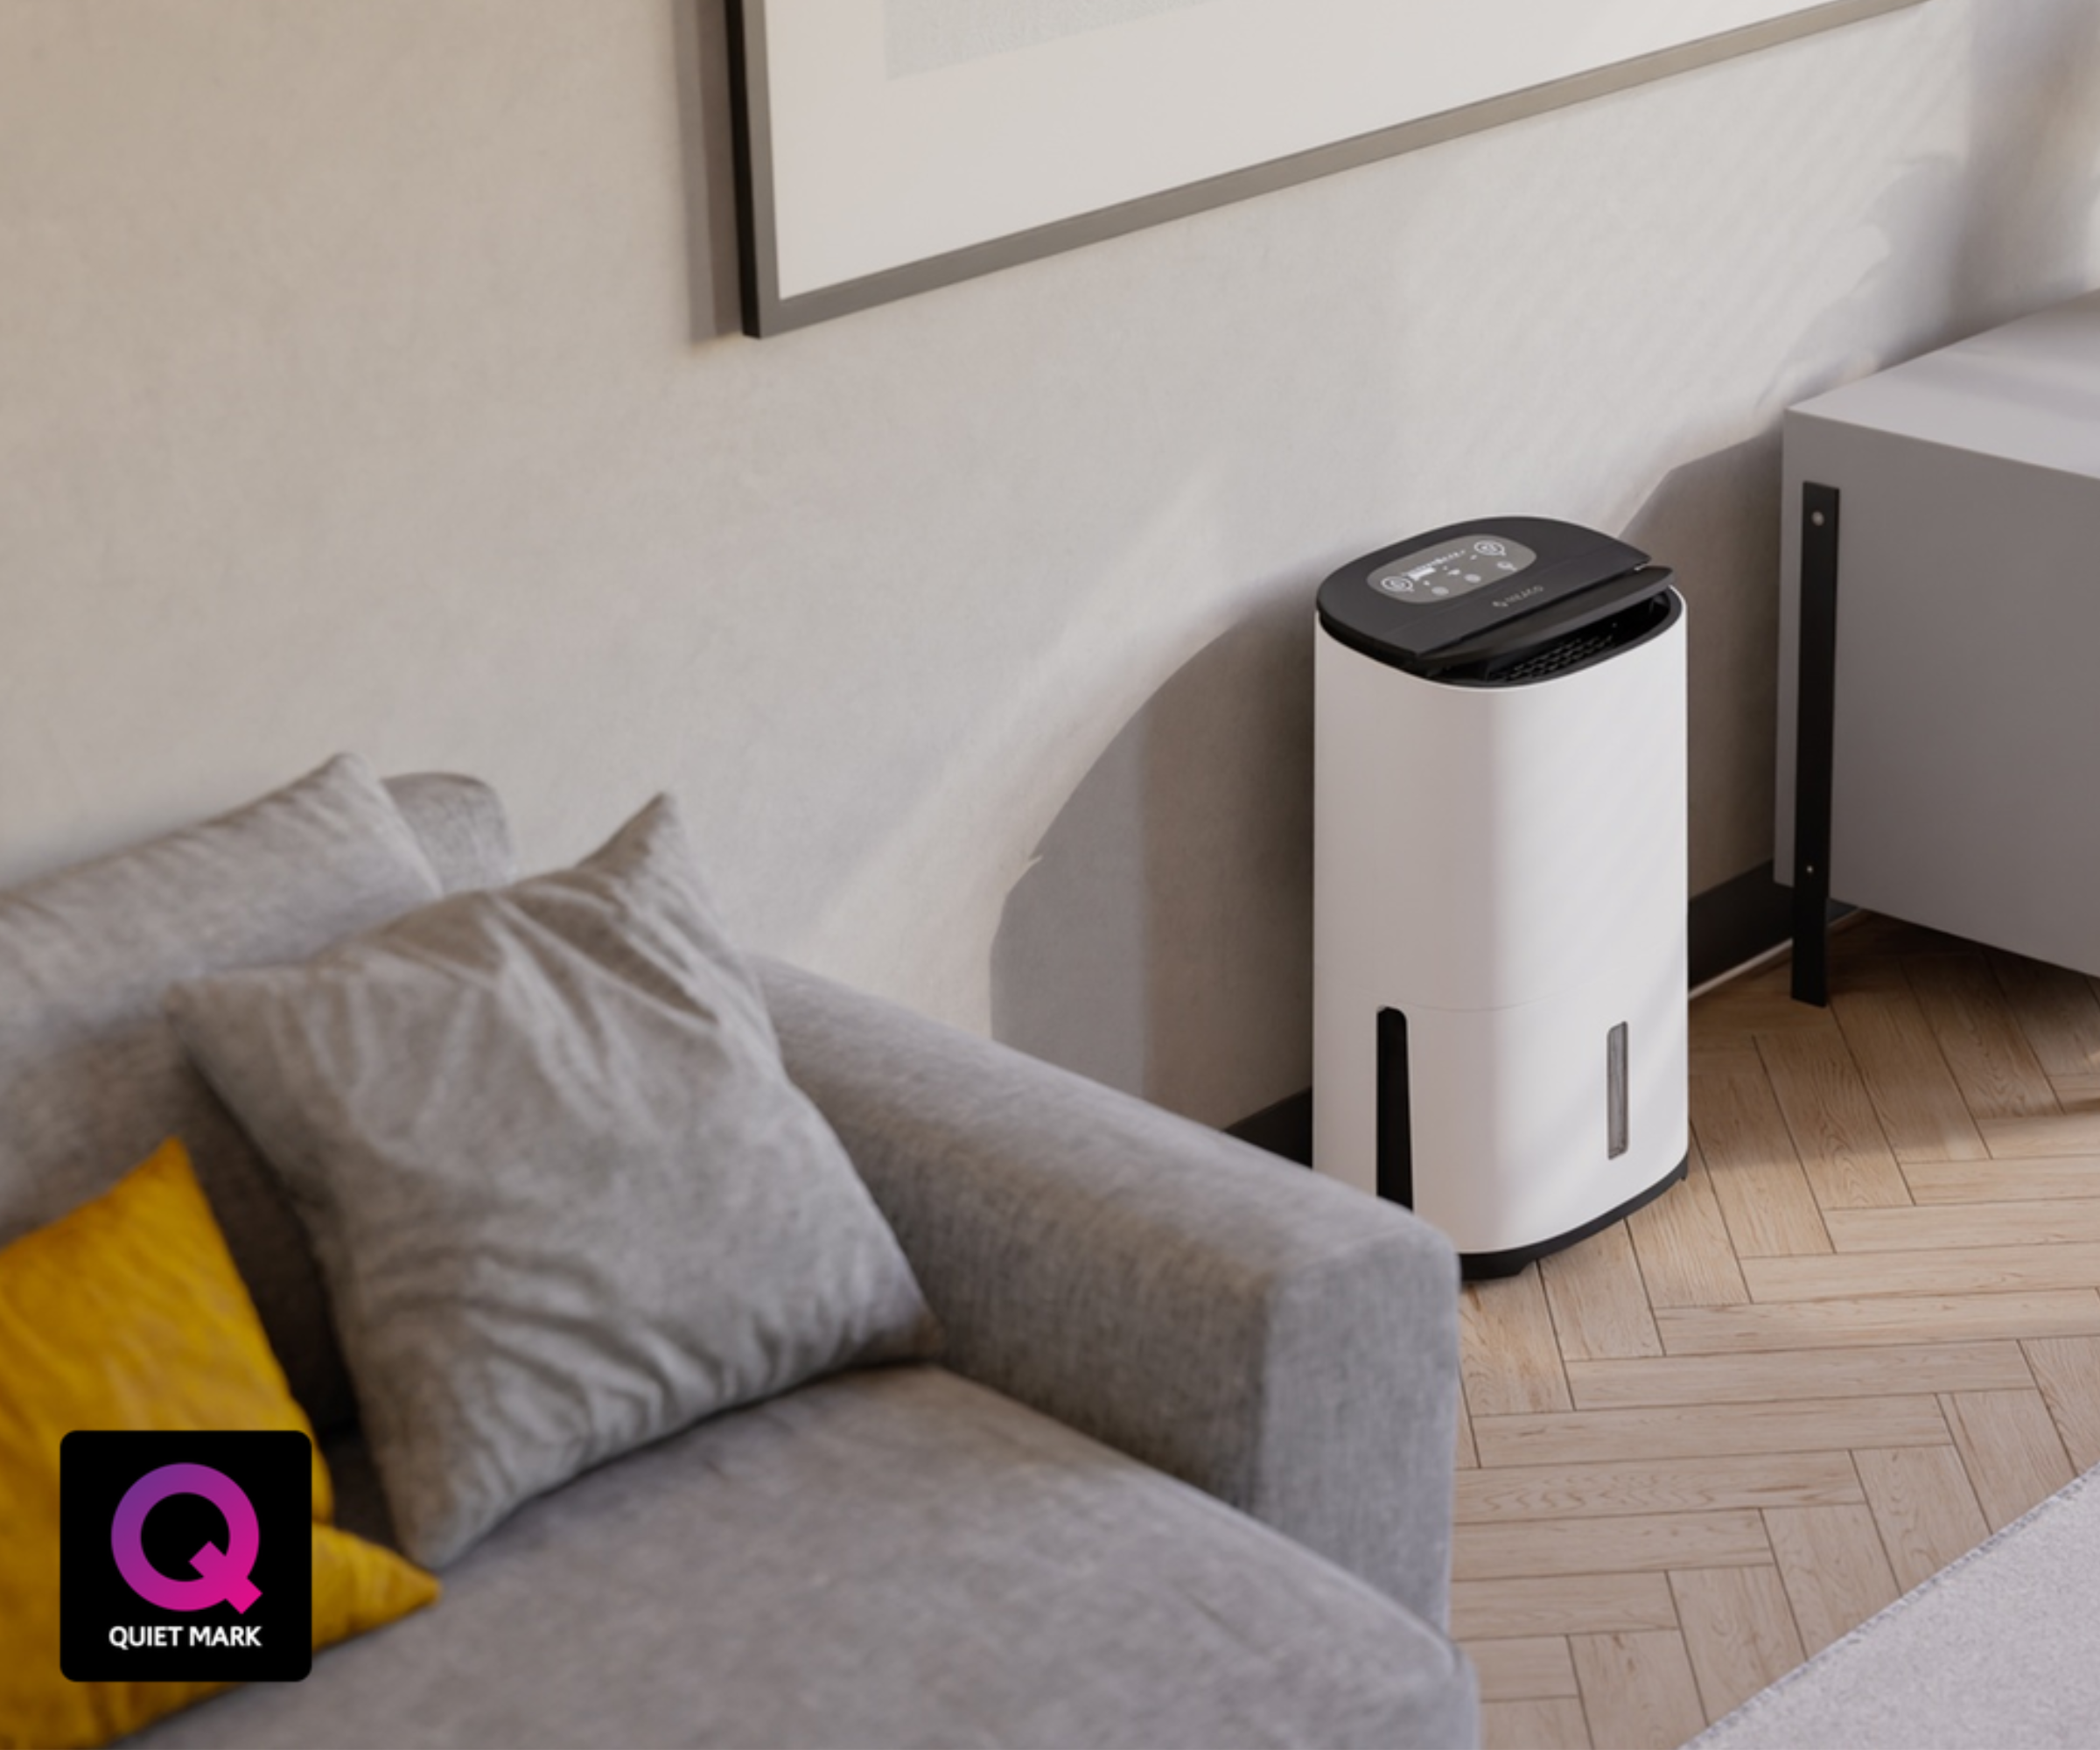
M 777 334 L 1917 0 L 731 0 Z

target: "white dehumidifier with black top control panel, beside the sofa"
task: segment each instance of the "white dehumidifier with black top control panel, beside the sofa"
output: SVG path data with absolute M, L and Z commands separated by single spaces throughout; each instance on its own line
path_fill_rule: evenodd
M 1315 645 L 1312 1166 L 1508 1275 L 1684 1176 L 1684 601 L 1510 517 L 1344 565 Z

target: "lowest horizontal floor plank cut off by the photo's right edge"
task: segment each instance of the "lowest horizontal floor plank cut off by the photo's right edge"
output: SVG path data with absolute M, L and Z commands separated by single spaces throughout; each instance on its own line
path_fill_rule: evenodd
M 1848 1349 L 1936 1338 L 2100 1336 L 2100 1294 L 2092 1288 L 2060 1288 L 2039 1294 L 1768 1300 L 1756 1307 L 1659 1309 L 1655 1326 L 1672 1355 Z

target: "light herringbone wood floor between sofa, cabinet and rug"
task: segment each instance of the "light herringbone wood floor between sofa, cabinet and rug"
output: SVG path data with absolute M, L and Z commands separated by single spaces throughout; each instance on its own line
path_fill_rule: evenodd
M 2100 994 L 1882 918 L 1693 1004 L 1690 1179 L 1464 1296 L 1491 1748 L 1674 1746 L 2100 1464 Z

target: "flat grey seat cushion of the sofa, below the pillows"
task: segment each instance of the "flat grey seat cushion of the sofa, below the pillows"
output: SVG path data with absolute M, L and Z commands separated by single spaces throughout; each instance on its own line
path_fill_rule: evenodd
M 1474 1744 L 1361 1580 L 941 1368 L 844 1374 L 525 1508 L 437 1609 L 155 1746 Z

